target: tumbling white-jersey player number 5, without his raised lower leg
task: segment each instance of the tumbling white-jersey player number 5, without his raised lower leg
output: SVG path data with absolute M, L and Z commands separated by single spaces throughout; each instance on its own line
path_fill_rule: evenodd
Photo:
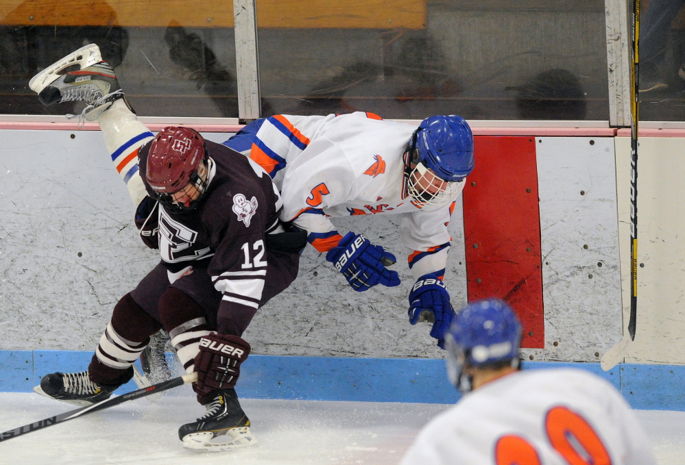
M 339 234 L 330 216 L 400 216 L 400 240 L 416 284 L 409 321 L 433 322 L 443 347 L 453 318 L 442 282 L 457 196 L 474 167 L 473 136 L 460 116 L 431 116 L 419 127 L 371 113 L 276 115 L 254 121 L 225 145 L 250 156 L 283 196 L 280 218 L 307 231 L 354 290 L 398 286 L 396 261 L 361 234 Z

